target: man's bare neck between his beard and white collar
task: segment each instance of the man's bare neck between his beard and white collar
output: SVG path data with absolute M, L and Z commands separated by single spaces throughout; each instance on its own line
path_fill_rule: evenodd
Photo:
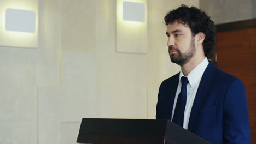
M 199 65 L 203 59 L 205 59 L 205 55 L 200 55 L 200 56 L 194 56 L 193 58 L 190 59 L 188 63 L 182 66 L 182 73 L 185 76 L 188 76 L 188 74 L 197 66 Z

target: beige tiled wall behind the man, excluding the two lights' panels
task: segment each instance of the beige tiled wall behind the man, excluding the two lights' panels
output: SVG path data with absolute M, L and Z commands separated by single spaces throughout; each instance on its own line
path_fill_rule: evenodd
M 147 54 L 115 52 L 114 0 L 39 0 L 37 49 L 0 47 L 1 143 L 75 143 L 83 117 L 155 118 L 179 67 L 163 17 L 199 0 L 148 0 Z

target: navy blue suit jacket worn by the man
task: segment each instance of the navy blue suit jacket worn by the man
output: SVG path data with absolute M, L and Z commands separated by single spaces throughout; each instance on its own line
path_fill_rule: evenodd
M 171 119 L 178 83 L 179 73 L 161 83 L 156 119 Z M 210 62 L 196 93 L 188 130 L 213 144 L 249 144 L 248 106 L 241 80 Z

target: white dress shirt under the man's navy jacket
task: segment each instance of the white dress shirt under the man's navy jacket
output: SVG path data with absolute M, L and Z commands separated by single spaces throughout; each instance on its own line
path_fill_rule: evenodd
M 189 74 L 188 74 L 188 81 L 189 83 L 187 84 L 187 103 L 185 106 L 185 111 L 184 111 L 184 122 L 183 122 L 183 128 L 188 129 L 188 123 L 189 123 L 189 117 L 190 117 L 190 112 L 195 100 L 196 92 L 199 87 L 200 81 L 202 79 L 202 75 L 205 72 L 205 69 L 207 65 L 209 64 L 208 59 L 205 57 L 203 61 L 197 65 Z M 173 114 L 175 111 L 176 107 L 176 102 L 179 93 L 181 92 L 181 77 L 184 76 L 184 74 L 181 72 L 179 73 L 179 84 L 177 87 L 175 99 L 174 99 L 174 104 L 173 104 L 173 109 L 172 109 L 172 118 Z

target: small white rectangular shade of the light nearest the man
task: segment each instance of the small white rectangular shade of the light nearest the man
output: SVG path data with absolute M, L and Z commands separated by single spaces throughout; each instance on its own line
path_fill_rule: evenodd
M 123 2 L 123 20 L 145 22 L 145 4 Z

